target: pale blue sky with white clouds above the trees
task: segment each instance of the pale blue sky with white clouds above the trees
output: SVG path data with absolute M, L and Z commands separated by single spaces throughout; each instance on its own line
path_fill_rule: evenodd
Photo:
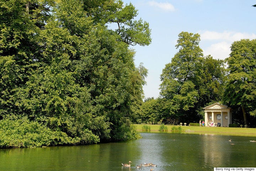
M 225 59 L 230 46 L 241 39 L 256 39 L 256 0 L 123 0 L 138 10 L 137 19 L 151 28 L 149 46 L 132 46 L 135 64 L 148 69 L 145 98 L 159 96 L 160 75 L 177 53 L 178 34 L 199 33 L 204 56 Z

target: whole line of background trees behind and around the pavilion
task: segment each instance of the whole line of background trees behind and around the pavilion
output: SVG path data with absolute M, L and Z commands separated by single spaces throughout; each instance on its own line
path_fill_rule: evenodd
M 199 34 L 178 35 L 178 52 L 160 76 L 160 97 L 145 99 L 135 122 L 199 122 L 203 107 L 219 102 L 231 107 L 233 123 L 256 126 L 256 39 L 234 42 L 225 60 L 203 56 L 199 41 Z

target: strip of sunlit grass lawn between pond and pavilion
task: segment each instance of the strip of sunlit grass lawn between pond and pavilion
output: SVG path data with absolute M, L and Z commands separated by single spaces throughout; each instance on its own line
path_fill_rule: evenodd
M 141 124 L 134 124 L 137 131 L 143 132 Z M 159 132 L 160 125 L 147 125 L 150 127 L 150 132 Z M 179 127 L 174 125 L 165 125 L 167 132 L 172 132 L 172 127 Z M 199 127 L 199 126 L 181 126 L 183 131 L 181 133 L 192 134 L 220 134 L 230 136 L 248 136 L 256 137 L 256 128 L 229 128 L 229 127 Z M 148 131 L 149 132 L 149 131 Z

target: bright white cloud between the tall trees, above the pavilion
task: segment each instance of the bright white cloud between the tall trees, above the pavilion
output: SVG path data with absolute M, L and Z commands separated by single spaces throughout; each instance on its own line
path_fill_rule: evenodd
M 240 32 L 199 31 L 203 44 L 204 56 L 211 55 L 215 59 L 225 59 L 230 54 L 230 46 L 241 39 L 256 39 L 256 34 Z

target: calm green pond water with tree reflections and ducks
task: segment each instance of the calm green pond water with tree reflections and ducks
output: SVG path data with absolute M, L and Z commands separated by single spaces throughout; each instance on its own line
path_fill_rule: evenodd
M 0 170 L 169 171 L 256 167 L 256 142 L 250 142 L 255 137 L 141 134 L 141 139 L 121 143 L 0 149 Z M 122 167 L 121 163 L 128 161 L 132 161 L 131 167 Z M 145 162 L 157 166 L 135 167 Z

